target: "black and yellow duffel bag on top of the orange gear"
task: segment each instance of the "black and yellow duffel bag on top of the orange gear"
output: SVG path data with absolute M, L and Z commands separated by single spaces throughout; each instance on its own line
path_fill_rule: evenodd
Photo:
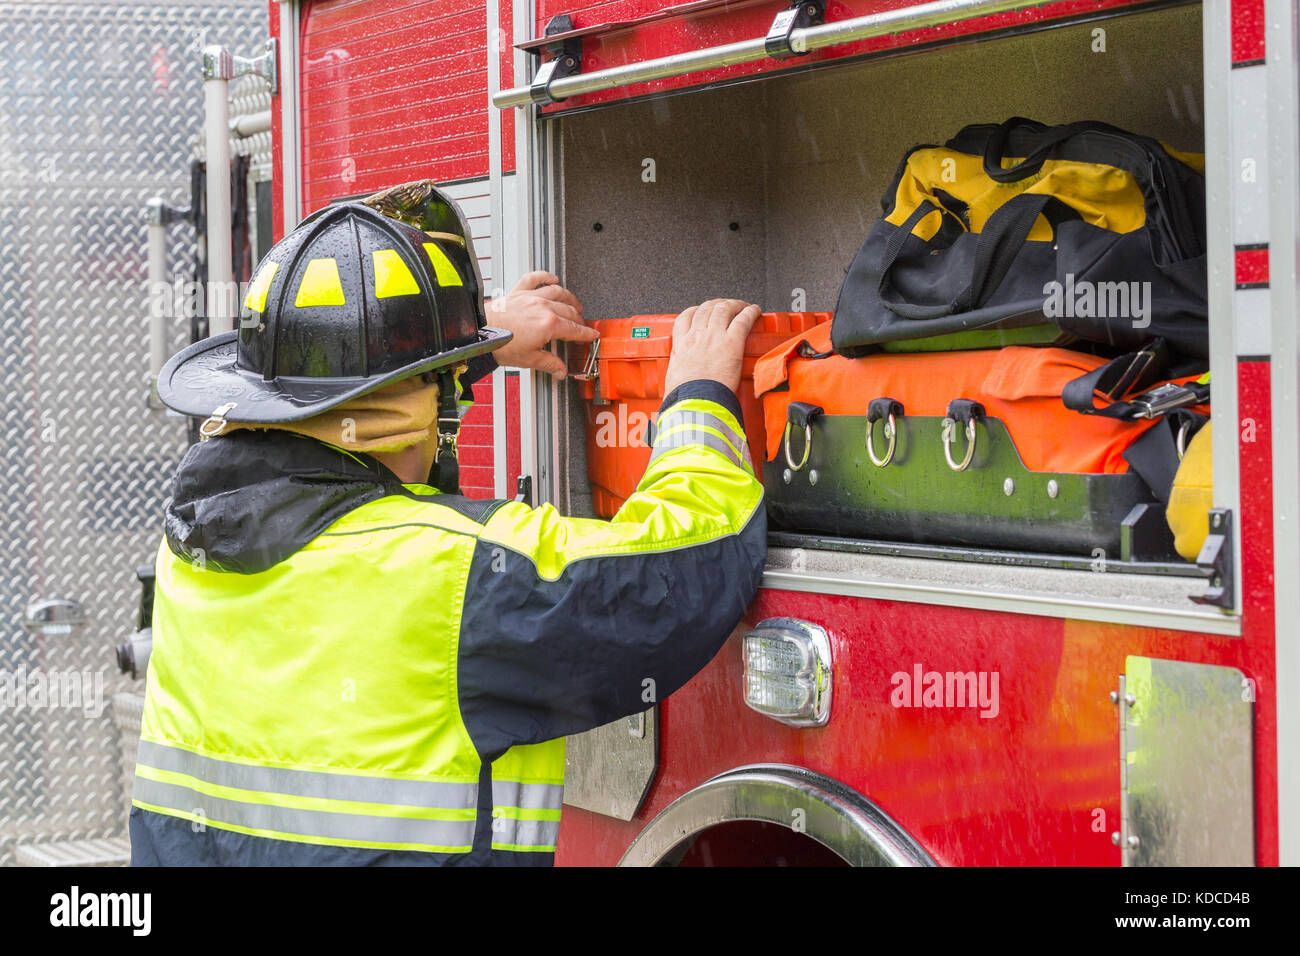
M 832 345 L 991 347 L 1045 326 L 1102 352 L 1160 337 L 1171 358 L 1204 358 L 1201 168 L 1101 122 L 1014 117 L 915 147 L 849 267 Z

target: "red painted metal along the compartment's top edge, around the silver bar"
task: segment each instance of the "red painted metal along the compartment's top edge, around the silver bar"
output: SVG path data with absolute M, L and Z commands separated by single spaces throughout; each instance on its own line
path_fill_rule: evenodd
M 892 36 L 827 47 L 826 49 L 814 51 L 806 56 L 788 61 L 759 60 L 751 64 L 693 73 L 688 77 L 675 79 L 637 83 L 607 92 L 573 96 L 563 103 L 549 107 L 547 112 L 559 112 L 575 107 L 610 103 L 629 96 L 644 96 L 685 87 L 707 86 L 772 70 L 800 69 L 807 64 L 848 56 L 909 52 L 928 44 L 956 43 L 979 34 L 1031 26 L 1062 17 L 1096 16 L 1101 12 L 1131 7 L 1136 3 L 1140 3 L 1140 0 L 1061 0 L 1061 3 L 1046 3 L 1019 13 L 1002 13 L 924 30 L 910 30 Z M 671 5 L 670 3 L 654 3 L 653 0 L 614 0 L 612 3 L 588 3 L 585 5 L 575 5 L 566 0 L 538 0 L 534 36 L 541 36 L 546 22 L 560 13 L 569 14 L 573 20 L 573 26 L 582 29 L 595 23 L 647 17 Z M 829 0 L 826 9 L 828 21 L 838 21 L 909 5 L 914 4 L 909 4 L 906 0 Z M 620 30 L 594 38 L 585 38 L 582 40 L 582 72 L 593 73 L 611 66 L 654 60 L 690 49 L 766 36 L 772 20 L 785 7 L 789 7 L 789 4 L 784 0 L 757 5 L 736 4 L 724 10 L 710 9 L 693 16 L 671 17 L 650 22 L 634 30 Z

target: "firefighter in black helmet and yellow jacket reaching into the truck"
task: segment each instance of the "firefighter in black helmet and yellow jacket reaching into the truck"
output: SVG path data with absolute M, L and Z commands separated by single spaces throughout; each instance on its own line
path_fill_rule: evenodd
M 465 498 L 459 390 L 493 355 L 545 367 L 550 339 L 595 333 L 543 273 L 489 328 L 437 199 L 456 224 L 437 238 L 361 204 L 308 217 L 240 328 L 162 369 L 204 441 L 157 554 L 135 865 L 551 864 L 563 737 L 681 687 L 758 589 L 734 394 L 758 308 L 677 317 L 650 464 L 612 520 Z

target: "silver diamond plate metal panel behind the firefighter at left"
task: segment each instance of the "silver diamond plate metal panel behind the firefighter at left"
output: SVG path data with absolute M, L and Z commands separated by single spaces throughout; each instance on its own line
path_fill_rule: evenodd
M 265 35 L 261 0 L 0 3 L 0 865 L 125 834 L 112 645 L 186 442 L 146 406 L 144 203 L 188 204 L 202 47 Z M 173 226 L 176 273 L 192 245 Z M 42 598 L 86 624 L 27 631 Z

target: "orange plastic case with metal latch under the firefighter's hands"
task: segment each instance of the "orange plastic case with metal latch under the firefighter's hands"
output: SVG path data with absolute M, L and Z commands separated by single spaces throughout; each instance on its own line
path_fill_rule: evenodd
M 663 402 L 675 315 L 597 319 L 597 381 L 582 382 L 586 401 L 586 475 L 595 514 L 612 518 L 650 463 L 650 423 Z M 754 397 L 754 363 L 792 336 L 828 323 L 829 312 L 764 312 L 745 343 L 740 405 L 755 471 L 763 460 L 763 406 Z M 597 402 L 599 393 L 599 403 Z M 762 476 L 759 476 L 762 477 Z

